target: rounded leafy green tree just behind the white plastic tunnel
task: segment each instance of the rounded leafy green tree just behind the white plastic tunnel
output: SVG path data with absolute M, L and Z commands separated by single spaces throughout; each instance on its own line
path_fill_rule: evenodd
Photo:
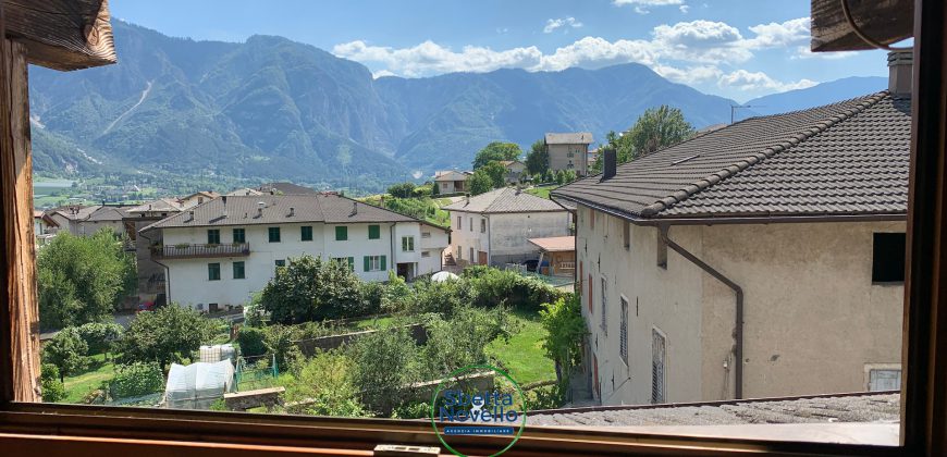
M 120 361 L 157 361 L 164 371 L 181 362 L 213 336 L 213 322 L 197 311 L 170 304 L 156 311 L 139 312 L 118 345 Z

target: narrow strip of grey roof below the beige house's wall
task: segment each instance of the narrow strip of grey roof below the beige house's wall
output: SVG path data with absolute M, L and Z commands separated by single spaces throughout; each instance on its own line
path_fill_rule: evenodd
M 864 393 L 689 405 L 592 407 L 529 413 L 529 424 L 566 427 L 896 422 L 900 395 Z

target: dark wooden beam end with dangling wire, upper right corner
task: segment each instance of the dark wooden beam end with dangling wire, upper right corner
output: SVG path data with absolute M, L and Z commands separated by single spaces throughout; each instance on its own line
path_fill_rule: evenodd
M 913 34 L 914 0 L 848 0 L 859 28 L 884 45 Z M 874 49 L 852 32 L 840 0 L 812 0 L 812 51 L 857 51 Z

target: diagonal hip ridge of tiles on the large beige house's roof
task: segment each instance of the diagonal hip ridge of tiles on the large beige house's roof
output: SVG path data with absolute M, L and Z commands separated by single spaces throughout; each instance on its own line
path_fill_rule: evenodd
M 868 97 L 864 97 L 863 101 L 854 104 L 853 107 L 849 108 L 848 110 L 846 110 L 841 113 L 834 114 L 834 115 L 832 115 L 832 116 L 829 116 L 821 122 L 817 122 L 814 125 L 810 126 L 809 128 L 802 131 L 801 133 L 797 133 L 796 135 L 790 136 L 786 140 L 783 140 L 776 145 L 764 148 L 763 150 L 755 152 L 746 159 L 739 160 L 736 163 L 733 163 L 729 166 L 726 166 L 716 173 L 712 173 L 705 177 L 702 177 L 698 181 L 694 181 L 692 183 L 685 185 L 684 187 L 674 192 L 669 196 L 664 197 L 664 198 L 642 208 L 641 211 L 639 212 L 639 214 L 641 217 L 644 217 L 644 218 L 655 215 L 659 212 L 664 211 L 676 203 L 679 203 L 684 200 L 687 200 L 688 198 L 690 198 L 694 194 L 698 194 L 702 190 L 705 190 L 705 189 L 727 180 L 728 177 L 731 177 L 731 176 L 736 175 L 737 173 L 762 162 L 765 159 L 772 158 L 773 156 L 775 156 L 779 152 L 783 152 L 787 149 L 790 149 L 794 146 L 796 146 L 796 145 L 798 145 L 798 144 L 800 144 L 809 138 L 812 138 L 813 136 L 819 135 L 822 132 L 825 132 L 827 128 L 832 127 L 833 125 L 838 124 L 841 121 L 845 121 L 847 119 L 854 116 L 856 114 L 864 111 L 869 107 L 877 103 L 878 101 L 881 101 L 882 99 L 884 99 L 889 94 L 887 90 L 883 90 L 883 91 L 870 95 Z M 851 100 L 857 100 L 857 99 L 851 99 Z M 839 102 L 839 103 L 843 103 L 843 102 Z M 833 104 L 838 104 L 838 103 L 815 107 L 815 108 L 811 108 L 810 110 L 831 107 Z M 800 111 L 807 111 L 807 110 L 800 110 Z

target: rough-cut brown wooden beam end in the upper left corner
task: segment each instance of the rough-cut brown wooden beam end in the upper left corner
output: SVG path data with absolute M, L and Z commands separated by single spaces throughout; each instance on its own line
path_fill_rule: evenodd
M 115 63 L 108 0 L 5 0 L 5 36 L 29 63 L 79 70 Z

